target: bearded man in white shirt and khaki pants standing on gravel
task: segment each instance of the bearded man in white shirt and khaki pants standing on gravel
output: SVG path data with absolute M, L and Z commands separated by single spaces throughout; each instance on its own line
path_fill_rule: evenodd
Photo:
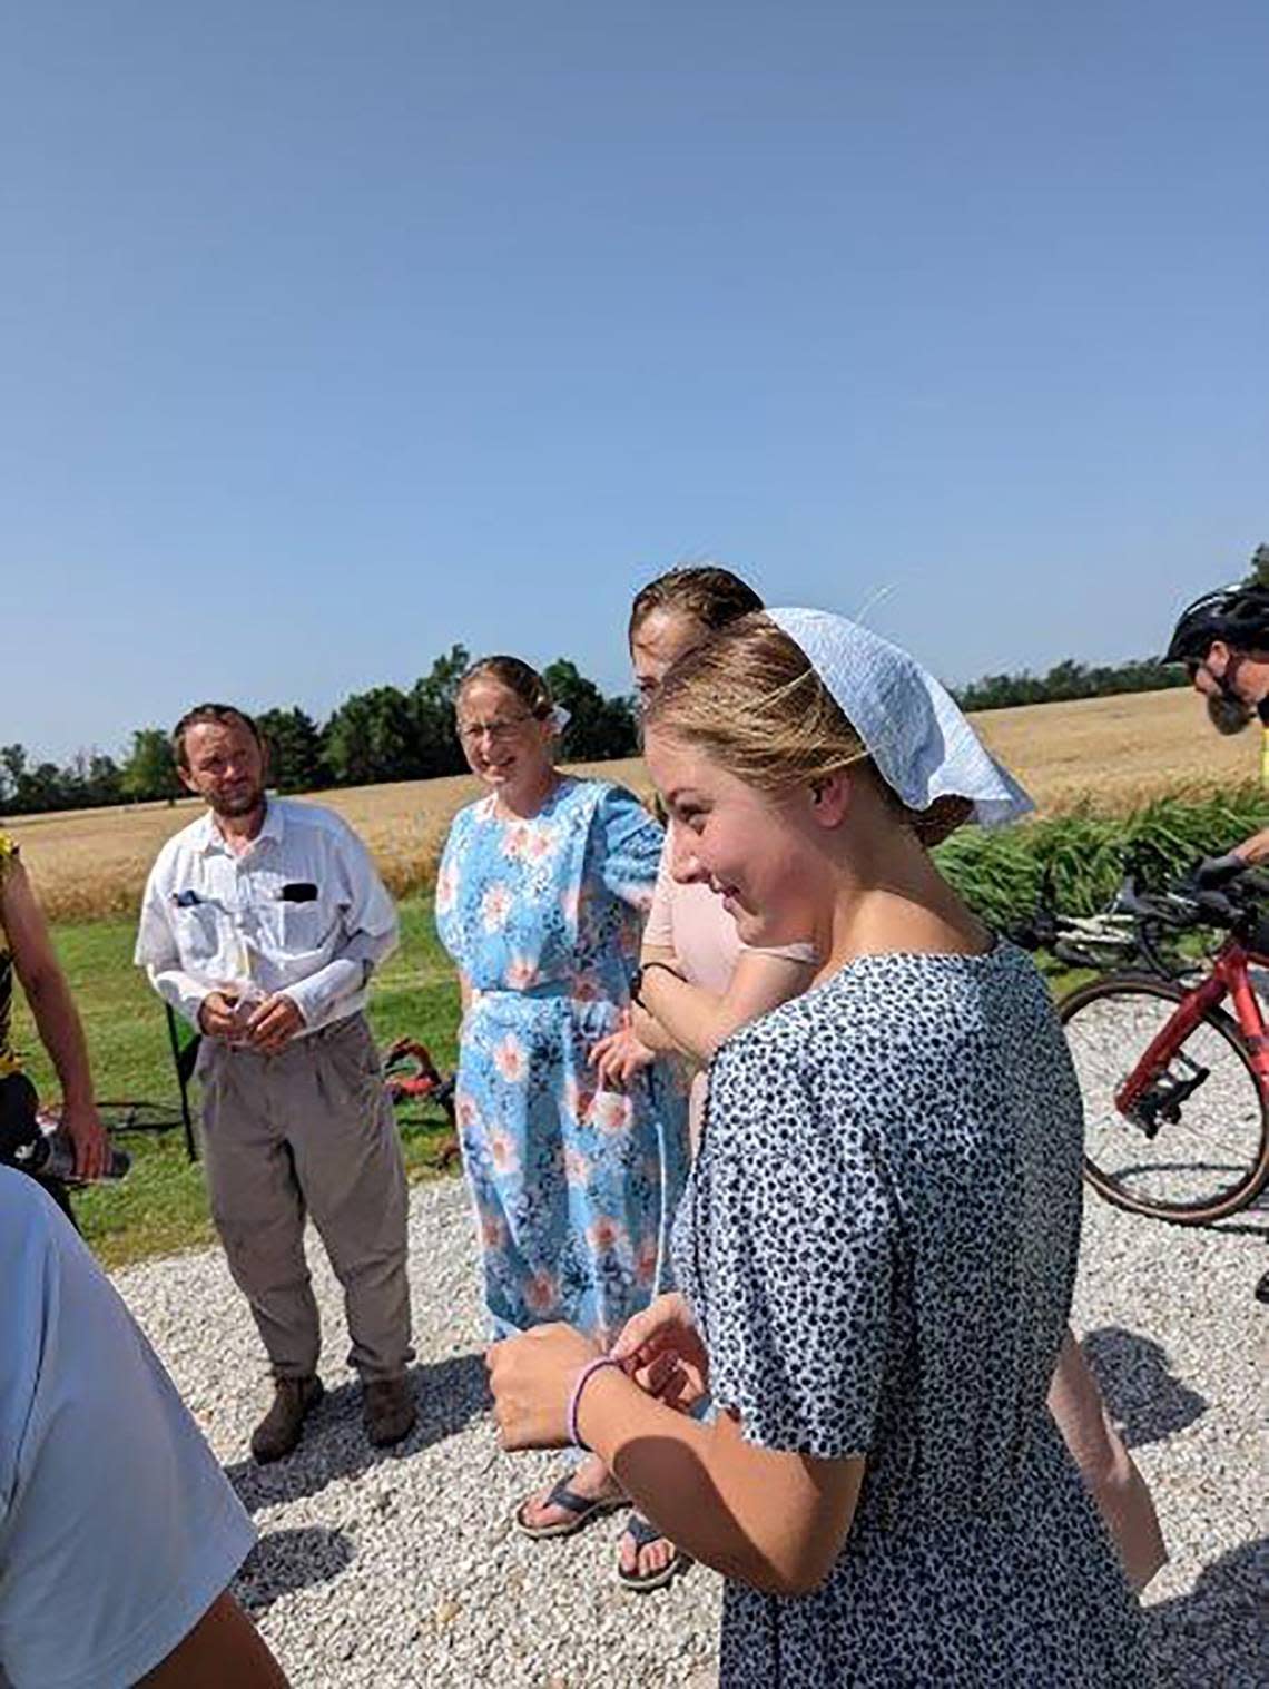
M 289 1454 L 323 1395 L 306 1214 L 343 1285 L 370 1441 L 399 1442 L 414 1424 L 406 1170 L 363 1015 L 395 909 L 345 821 L 265 794 L 243 711 L 199 704 L 172 743 L 210 812 L 159 851 L 135 959 L 203 1034 L 211 1214 L 275 1383 L 252 1453 Z

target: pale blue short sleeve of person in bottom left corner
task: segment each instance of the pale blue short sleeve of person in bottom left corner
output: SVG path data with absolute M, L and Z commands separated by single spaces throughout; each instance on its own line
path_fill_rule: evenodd
M 123 1689 L 228 1588 L 255 1530 L 115 1289 L 7 1169 L 0 1282 L 0 1681 Z

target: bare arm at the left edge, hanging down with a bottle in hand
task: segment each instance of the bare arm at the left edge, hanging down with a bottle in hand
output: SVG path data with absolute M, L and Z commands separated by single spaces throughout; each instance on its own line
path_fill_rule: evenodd
M 44 912 L 20 861 L 10 861 L 0 880 L 0 924 L 8 936 L 14 968 L 35 1017 L 41 1044 L 57 1069 L 63 1121 L 74 1142 L 76 1172 L 96 1179 L 108 1154 L 106 1133 L 93 1100 L 84 1029 L 49 937 Z

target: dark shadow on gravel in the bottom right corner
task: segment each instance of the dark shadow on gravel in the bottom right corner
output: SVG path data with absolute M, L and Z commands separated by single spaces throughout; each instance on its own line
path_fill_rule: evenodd
M 1269 1537 L 1261 1537 L 1205 1567 L 1190 1594 L 1146 1610 L 1161 1686 L 1259 1689 L 1264 1684 L 1266 1574 Z

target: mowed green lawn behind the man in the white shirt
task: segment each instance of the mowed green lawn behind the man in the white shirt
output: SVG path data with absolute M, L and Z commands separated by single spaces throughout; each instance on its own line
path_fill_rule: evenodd
M 380 1044 L 414 1037 L 428 1045 L 443 1073 L 456 1057 L 458 985 L 449 958 L 436 941 L 431 897 L 400 904 L 400 949 L 377 975 L 370 1022 Z M 88 1034 L 98 1096 L 177 1103 L 177 1083 L 167 1047 L 162 1003 L 139 968 L 132 966 L 135 924 L 93 921 L 54 929 L 54 941 Z M 19 993 L 20 997 L 20 993 Z M 15 1039 L 42 1096 L 54 1096 L 52 1067 L 19 1002 Z M 397 1110 L 406 1167 L 412 1179 L 438 1170 L 438 1147 L 446 1133 L 438 1108 Z M 128 1135 L 133 1155 L 122 1184 L 76 1196 L 84 1236 L 108 1267 L 210 1243 L 203 1172 L 189 1164 L 181 1130 Z

